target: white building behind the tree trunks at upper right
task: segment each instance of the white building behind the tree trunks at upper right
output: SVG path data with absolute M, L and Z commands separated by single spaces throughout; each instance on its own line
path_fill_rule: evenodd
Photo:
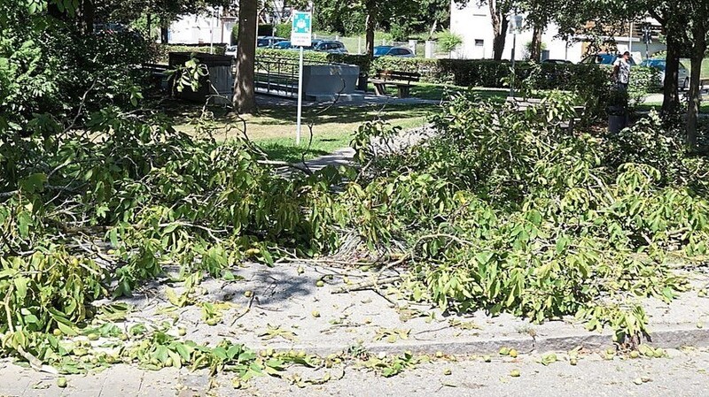
M 653 19 L 648 22 L 656 27 L 658 23 Z M 511 24 L 510 24 L 511 25 Z M 642 42 L 639 32 L 639 25 L 633 24 L 628 29 L 632 34 L 630 37 L 616 37 L 615 42 L 619 52 L 629 50 L 633 53 L 636 61 L 645 57 L 645 44 Z M 453 57 L 463 59 L 489 59 L 493 57 L 493 26 L 490 19 L 490 9 L 487 4 L 479 5 L 478 2 L 468 2 L 464 7 L 451 1 L 450 7 L 450 31 L 463 38 L 463 44 L 458 46 L 452 54 Z M 510 59 L 512 55 L 513 34 L 508 30 L 506 33 L 503 59 Z M 542 51 L 542 58 L 565 59 L 578 63 L 582 57 L 586 56 L 588 45 L 583 42 L 583 37 L 577 40 L 566 42 L 556 37 L 558 28 L 550 24 L 541 36 L 545 51 Z M 517 46 L 515 59 L 524 59 L 526 55 L 526 43 L 532 41 L 532 30 L 527 29 L 517 34 Z M 665 46 L 657 40 L 649 46 L 649 53 L 665 50 Z

